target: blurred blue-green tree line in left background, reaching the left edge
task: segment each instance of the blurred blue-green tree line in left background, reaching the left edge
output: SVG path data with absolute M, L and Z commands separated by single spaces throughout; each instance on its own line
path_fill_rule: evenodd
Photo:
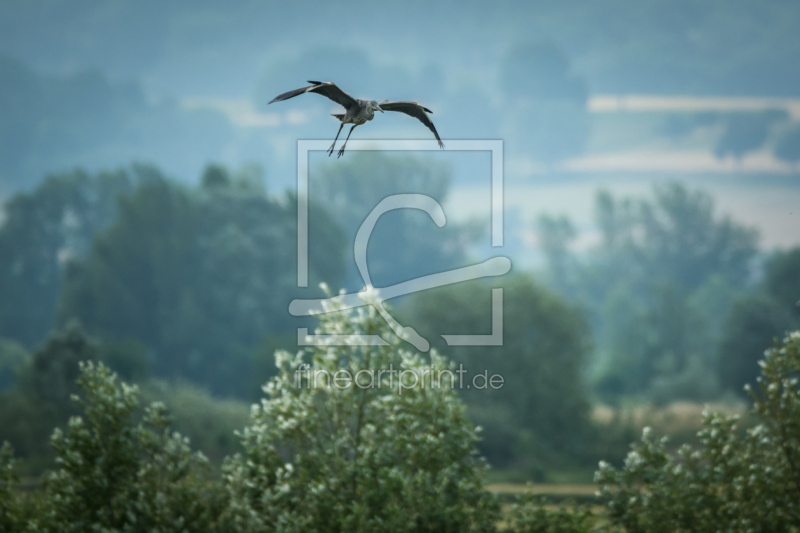
M 0 336 L 32 348 L 77 319 L 140 343 L 158 376 L 239 390 L 250 353 L 289 329 L 295 210 L 215 166 L 198 187 L 142 166 L 53 176 L 6 204 Z M 311 212 L 311 279 L 336 283 L 341 231 Z

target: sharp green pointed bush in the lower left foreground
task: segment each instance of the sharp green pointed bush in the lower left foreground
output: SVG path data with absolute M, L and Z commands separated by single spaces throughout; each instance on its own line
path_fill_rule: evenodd
M 220 506 L 202 482 L 206 459 L 170 434 L 164 405 L 150 405 L 134 425 L 135 386 L 92 362 L 81 363 L 78 384 L 84 415 L 53 433 L 59 468 L 48 477 L 32 529 L 212 531 Z

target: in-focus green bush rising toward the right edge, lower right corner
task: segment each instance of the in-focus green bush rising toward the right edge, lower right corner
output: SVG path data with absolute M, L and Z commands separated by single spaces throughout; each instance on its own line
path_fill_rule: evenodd
M 708 413 L 701 446 L 677 457 L 649 429 L 617 470 L 596 480 L 612 522 L 625 531 L 794 531 L 800 527 L 800 332 L 766 352 L 744 434 L 736 417 Z

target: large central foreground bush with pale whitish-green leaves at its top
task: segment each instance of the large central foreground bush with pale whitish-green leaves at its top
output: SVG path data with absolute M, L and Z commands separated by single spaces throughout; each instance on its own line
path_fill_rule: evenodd
M 446 360 L 433 354 L 429 364 L 406 352 L 372 307 L 349 319 L 323 315 L 319 331 L 381 335 L 387 344 L 277 355 L 279 374 L 241 433 L 245 451 L 224 469 L 227 527 L 493 530 L 498 504 L 484 488 L 478 437 L 452 383 L 411 378 L 449 368 Z M 336 372 L 354 381 L 325 377 Z

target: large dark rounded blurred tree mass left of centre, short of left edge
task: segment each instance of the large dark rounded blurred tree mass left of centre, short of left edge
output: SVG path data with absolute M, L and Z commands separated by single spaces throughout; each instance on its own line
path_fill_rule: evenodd
M 251 353 L 284 333 L 297 294 L 296 201 L 209 167 L 189 188 L 162 176 L 121 198 L 114 223 L 65 272 L 59 321 L 105 340 L 135 339 L 153 371 L 216 392 L 242 392 Z M 327 213 L 310 220 L 311 281 L 341 279 L 342 237 Z

